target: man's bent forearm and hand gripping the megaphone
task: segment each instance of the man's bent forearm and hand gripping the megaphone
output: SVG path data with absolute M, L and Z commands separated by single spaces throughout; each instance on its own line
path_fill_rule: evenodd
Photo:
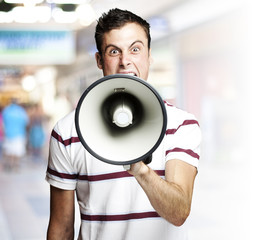
M 165 179 L 143 162 L 131 165 L 135 176 L 157 213 L 175 226 L 181 226 L 190 214 L 194 179 L 197 170 L 180 160 L 166 163 Z

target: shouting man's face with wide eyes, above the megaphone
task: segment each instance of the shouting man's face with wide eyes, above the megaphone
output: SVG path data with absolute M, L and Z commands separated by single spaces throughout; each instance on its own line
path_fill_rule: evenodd
M 146 33 L 136 23 L 105 33 L 102 56 L 96 53 L 97 65 L 104 76 L 130 74 L 144 80 L 148 78 L 150 58 Z

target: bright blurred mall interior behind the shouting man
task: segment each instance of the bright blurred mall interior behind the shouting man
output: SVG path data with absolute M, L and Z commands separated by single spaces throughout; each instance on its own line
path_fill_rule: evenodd
M 0 0 L 0 110 L 15 99 L 29 119 L 12 166 L 0 118 L 0 239 L 45 239 L 48 139 L 102 77 L 94 27 L 114 7 L 150 22 L 149 82 L 202 129 L 189 239 L 253 239 L 251 0 Z

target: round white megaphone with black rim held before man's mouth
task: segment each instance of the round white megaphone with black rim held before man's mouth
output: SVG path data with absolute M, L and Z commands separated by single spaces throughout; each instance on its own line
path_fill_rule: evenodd
M 158 92 L 126 74 L 91 84 L 75 112 L 78 137 L 95 158 L 115 165 L 151 159 L 166 131 L 167 114 Z

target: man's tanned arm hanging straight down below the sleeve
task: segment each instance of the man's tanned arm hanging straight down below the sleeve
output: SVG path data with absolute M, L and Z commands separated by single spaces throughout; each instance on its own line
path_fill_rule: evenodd
M 48 240 L 74 239 L 74 191 L 50 186 Z

